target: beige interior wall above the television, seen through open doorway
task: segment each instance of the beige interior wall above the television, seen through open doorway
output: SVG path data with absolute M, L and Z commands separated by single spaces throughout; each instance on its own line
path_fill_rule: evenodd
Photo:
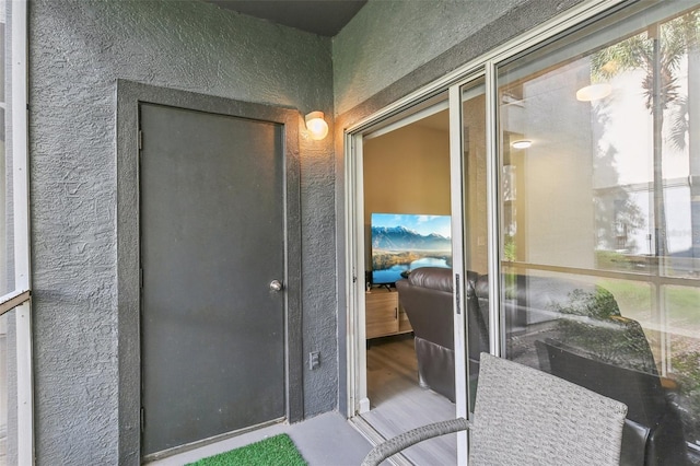
M 366 245 L 372 212 L 450 214 L 448 131 L 413 124 L 368 139 L 363 164 Z

